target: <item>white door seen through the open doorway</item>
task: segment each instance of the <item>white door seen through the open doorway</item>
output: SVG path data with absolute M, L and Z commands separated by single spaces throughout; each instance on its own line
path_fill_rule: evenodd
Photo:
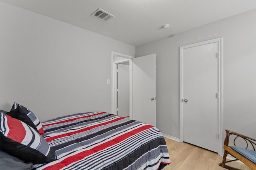
M 129 61 L 117 64 L 117 115 L 128 117 L 130 114 L 130 75 Z

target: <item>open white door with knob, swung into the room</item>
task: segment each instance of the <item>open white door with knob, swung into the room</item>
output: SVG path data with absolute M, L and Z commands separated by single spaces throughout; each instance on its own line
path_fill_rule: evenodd
M 156 126 L 156 54 L 132 59 L 132 119 Z

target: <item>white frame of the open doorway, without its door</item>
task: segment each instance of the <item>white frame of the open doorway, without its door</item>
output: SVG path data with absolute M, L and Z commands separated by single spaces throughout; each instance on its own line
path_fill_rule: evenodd
M 114 57 L 121 57 L 122 60 L 114 61 Z M 129 116 L 130 119 L 132 119 L 132 59 L 135 58 L 130 55 L 125 55 L 121 53 L 117 53 L 114 51 L 111 51 L 111 113 L 116 115 L 116 64 L 124 63 L 129 61 L 129 102 L 130 102 L 130 110 L 129 110 Z

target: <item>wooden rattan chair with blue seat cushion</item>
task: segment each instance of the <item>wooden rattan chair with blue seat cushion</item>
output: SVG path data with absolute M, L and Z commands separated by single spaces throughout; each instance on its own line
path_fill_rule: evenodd
M 230 135 L 235 135 L 235 139 L 233 141 L 234 146 L 229 146 L 228 145 Z M 235 143 L 236 143 L 236 139 L 238 139 L 238 138 L 242 138 L 246 142 L 247 146 L 246 146 L 245 149 L 242 149 L 242 148 L 236 146 Z M 252 150 L 248 149 L 248 145 L 252 147 Z M 226 130 L 226 138 L 224 140 L 223 159 L 222 159 L 222 163 L 219 163 L 218 165 L 223 167 L 223 168 L 229 169 L 229 170 L 240 170 L 240 169 L 237 169 L 237 168 L 226 165 L 227 162 L 240 160 L 241 162 L 246 164 L 252 170 L 256 170 L 256 162 L 254 162 L 254 160 L 256 159 L 255 149 L 256 149 L 256 139 L 252 139 L 252 138 L 247 137 L 245 135 L 242 135 L 242 134 L 239 134 L 239 133 L 236 133 L 236 132 L 233 132 L 233 131 Z M 226 161 L 226 156 L 228 154 L 232 155 L 236 159 Z M 246 155 L 246 156 L 244 156 L 244 155 Z

